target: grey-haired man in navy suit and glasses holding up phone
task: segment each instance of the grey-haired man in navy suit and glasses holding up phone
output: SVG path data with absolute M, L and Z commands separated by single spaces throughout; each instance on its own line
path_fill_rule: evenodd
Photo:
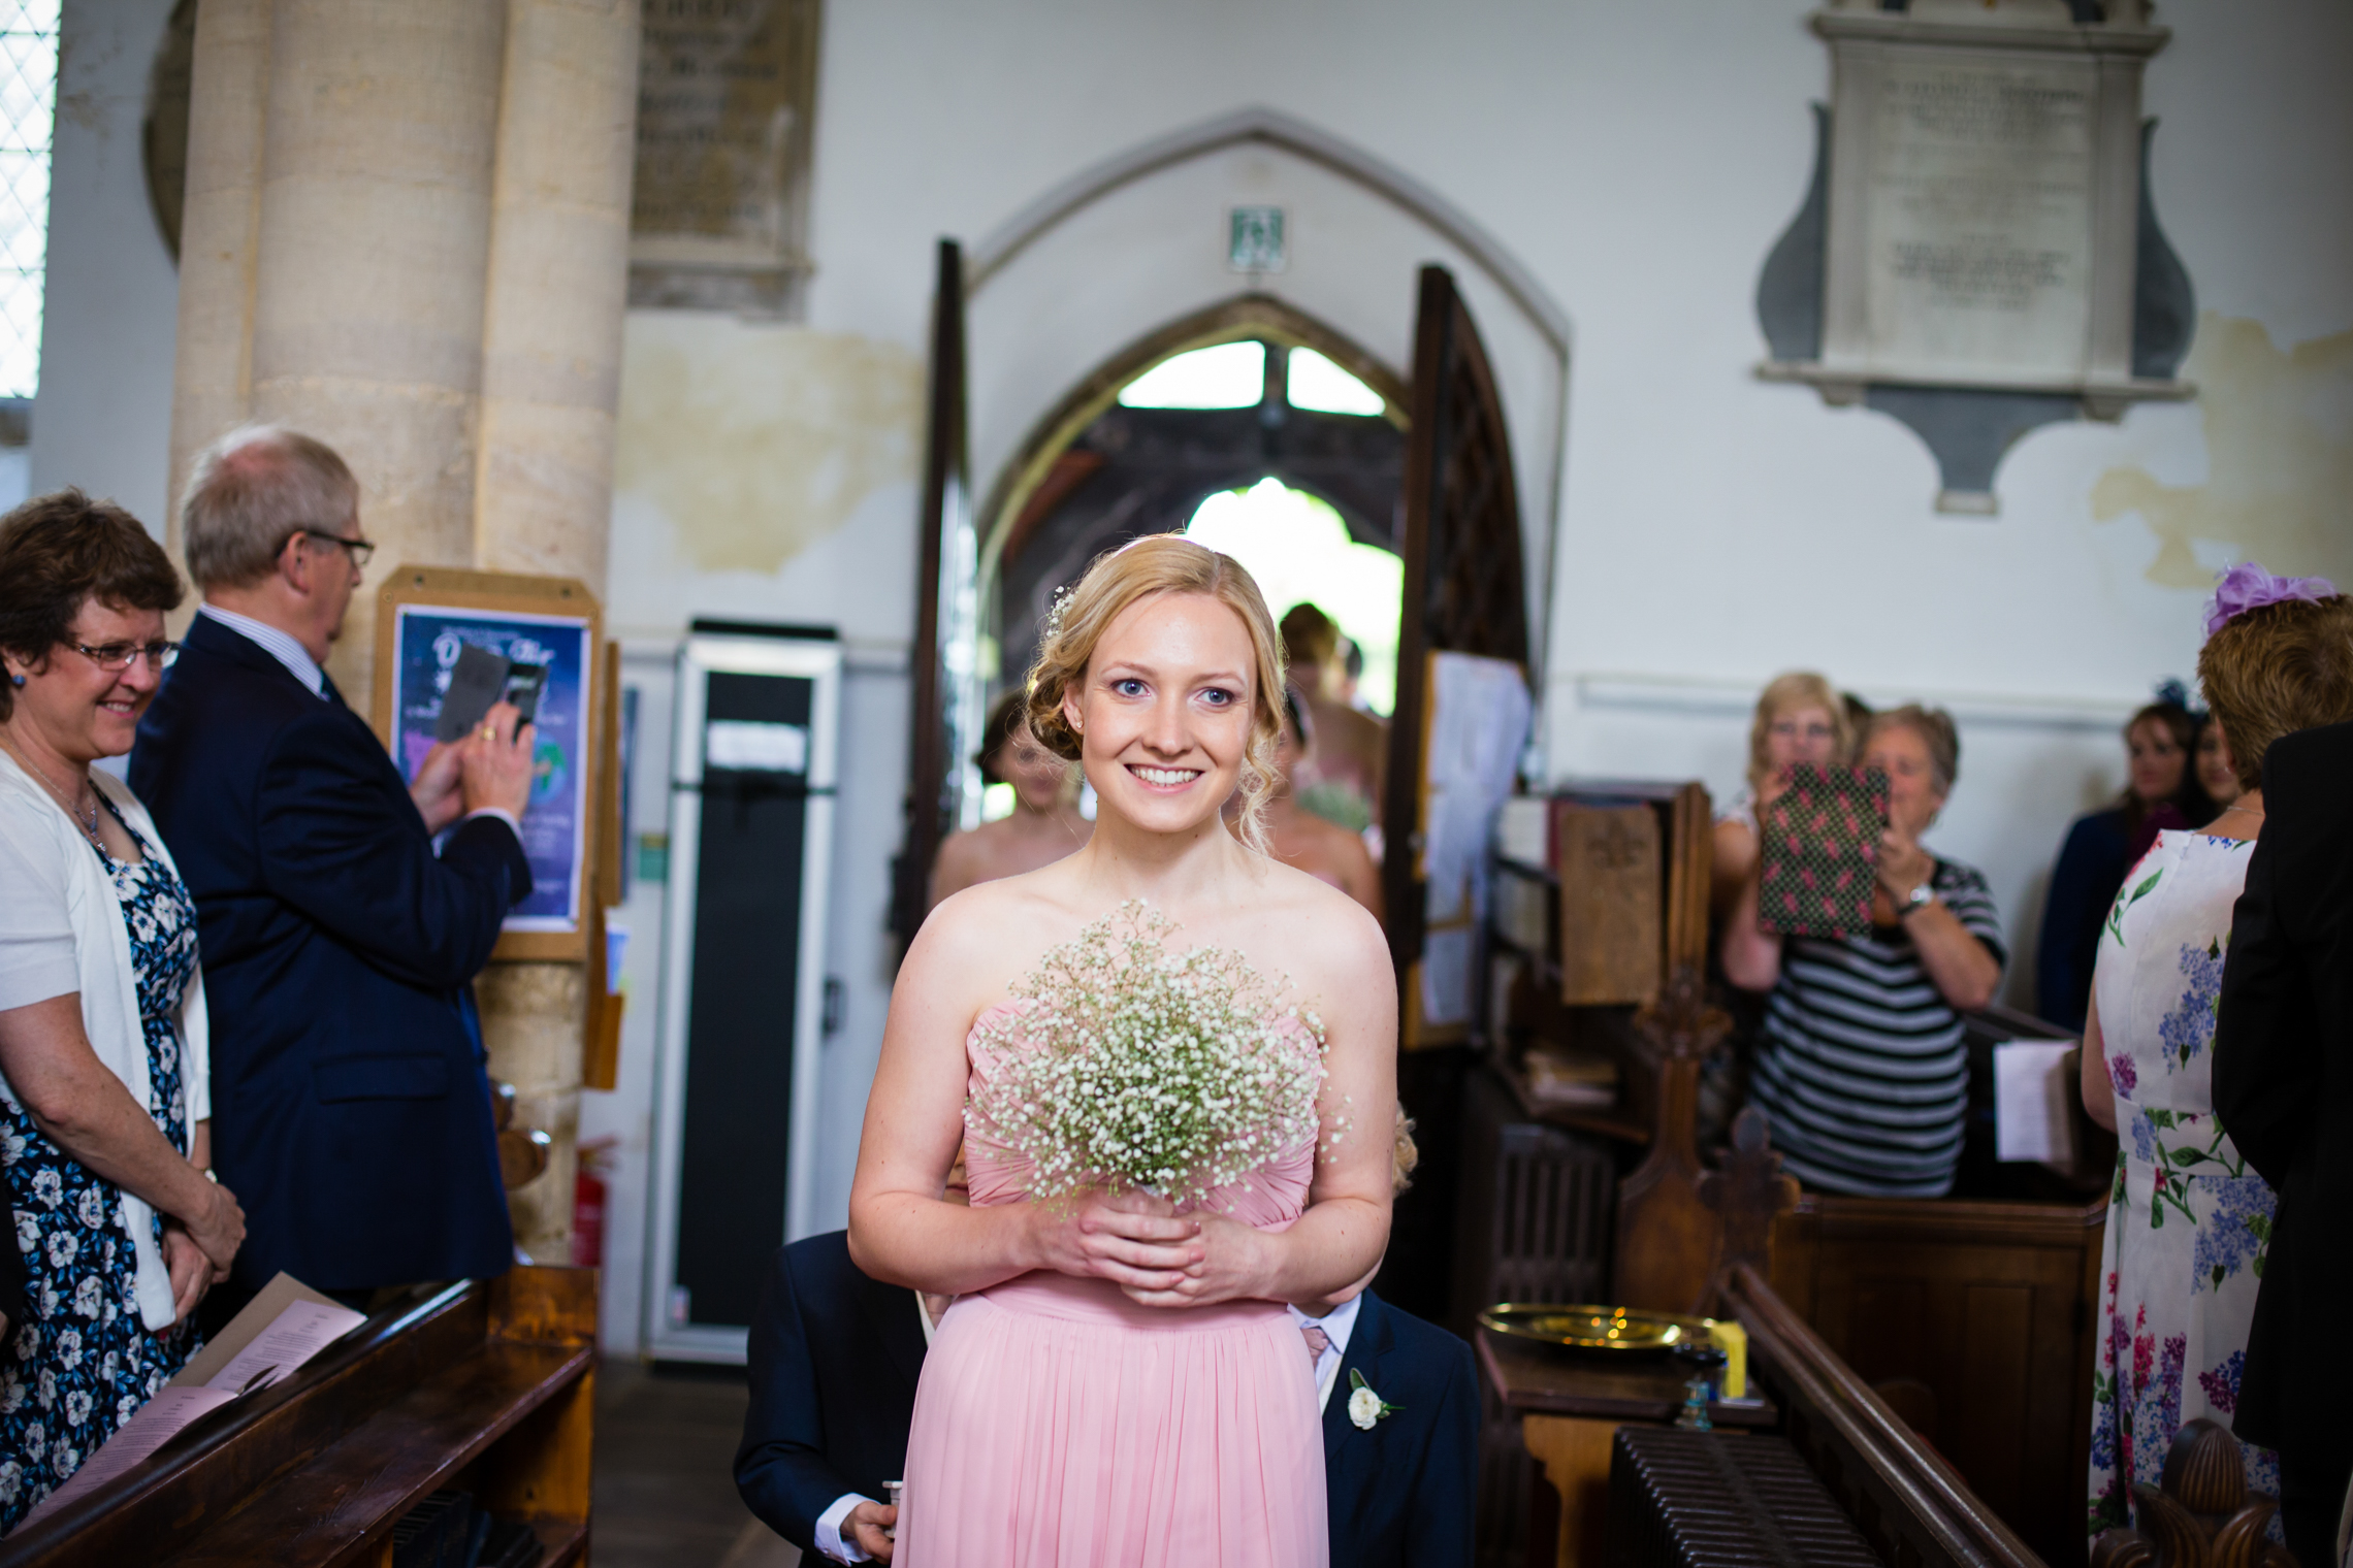
M 355 1298 L 499 1274 L 515 1244 L 471 983 L 532 886 L 532 731 L 494 708 L 409 785 L 344 705 L 320 665 L 372 545 L 320 442 L 224 437 L 181 529 L 205 604 L 132 788 L 198 907 L 212 1164 L 247 1218 L 233 1279 Z

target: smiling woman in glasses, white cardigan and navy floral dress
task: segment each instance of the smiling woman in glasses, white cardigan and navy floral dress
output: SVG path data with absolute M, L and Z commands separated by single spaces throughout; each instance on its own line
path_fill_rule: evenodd
M 195 905 L 127 785 L 179 574 L 80 491 L 0 517 L 0 1194 L 24 1260 L 0 1338 L 0 1533 L 198 1345 L 245 1218 L 205 1180 Z

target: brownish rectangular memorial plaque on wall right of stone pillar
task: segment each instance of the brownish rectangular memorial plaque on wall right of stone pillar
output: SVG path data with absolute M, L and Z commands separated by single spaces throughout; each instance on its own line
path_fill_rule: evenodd
M 800 315 L 819 0 L 645 0 L 628 303 Z

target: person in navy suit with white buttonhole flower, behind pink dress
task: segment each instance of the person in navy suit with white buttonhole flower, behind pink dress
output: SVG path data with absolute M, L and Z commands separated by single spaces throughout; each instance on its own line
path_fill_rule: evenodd
M 1395 1187 L 1417 1161 L 1398 1110 Z M 1471 1568 L 1478 1373 L 1471 1347 L 1365 1288 L 1289 1307 L 1322 1399 L 1332 1568 Z

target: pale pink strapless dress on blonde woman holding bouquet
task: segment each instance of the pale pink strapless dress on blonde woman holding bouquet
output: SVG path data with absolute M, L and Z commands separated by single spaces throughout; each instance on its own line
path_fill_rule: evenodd
M 972 1081 L 986 1079 L 979 1044 Z M 1031 1166 L 972 1128 L 972 1204 Z M 1292 1225 L 1315 1145 L 1212 1206 Z M 962 1295 L 915 1389 L 899 1568 L 1325 1568 L 1313 1361 L 1280 1302 L 1139 1307 L 1118 1286 L 1021 1274 Z

